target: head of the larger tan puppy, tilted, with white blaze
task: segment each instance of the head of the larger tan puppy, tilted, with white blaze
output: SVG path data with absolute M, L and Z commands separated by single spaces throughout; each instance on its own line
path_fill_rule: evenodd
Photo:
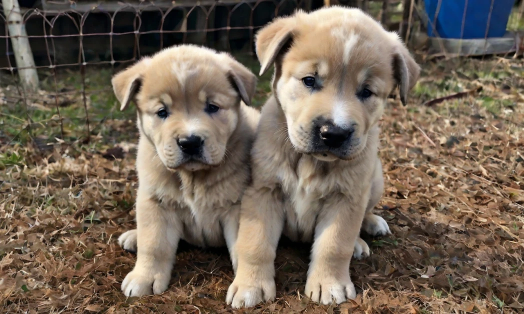
M 275 64 L 274 94 L 294 148 L 320 160 L 350 160 L 395 86 L 406 104 L 420 68 L 395 33 L 359 9 L 297 12 L 261 29 L 260 74 Z

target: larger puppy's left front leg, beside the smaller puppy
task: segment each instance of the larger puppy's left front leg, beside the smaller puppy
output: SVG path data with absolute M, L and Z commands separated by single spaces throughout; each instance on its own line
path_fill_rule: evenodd
M 250 187 L 244 194 L 234 250 L 238 266 L 226 296 L 233 308 L 252 307 L 277 294 L 275 255 L 284 222 L 279 193 Z

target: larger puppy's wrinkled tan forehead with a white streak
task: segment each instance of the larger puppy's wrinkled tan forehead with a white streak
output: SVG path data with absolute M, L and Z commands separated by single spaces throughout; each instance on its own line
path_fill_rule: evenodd
M 296 37 L 289 52 L 296 75 L 348 76 L 355 83 L 366 78 L 392 79 L 391 47 L 384 36 L 345 24 L 311 28 Z

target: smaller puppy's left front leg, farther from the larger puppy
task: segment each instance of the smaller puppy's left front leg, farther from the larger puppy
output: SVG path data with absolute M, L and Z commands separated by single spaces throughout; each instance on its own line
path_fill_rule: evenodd
M 136 200 L 137 261 L 122 282 L 128 297 L 166 291 L 180 239 L 180 221 L 174 212 L 144 194 L 139 190 Z

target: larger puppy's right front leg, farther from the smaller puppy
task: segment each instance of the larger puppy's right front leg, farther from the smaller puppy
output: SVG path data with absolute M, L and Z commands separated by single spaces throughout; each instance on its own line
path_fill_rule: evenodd
M 311 263 L 305 283 L 305 295 L 314 302 L 328 305 L 335 299 L 340 304 L 356 297 L 355 286 L 350 278 L 350 261 L 353 243 L 364 218 L 366 204 L 362 203 L 337 195 L 322 209 L 315 227 Z

